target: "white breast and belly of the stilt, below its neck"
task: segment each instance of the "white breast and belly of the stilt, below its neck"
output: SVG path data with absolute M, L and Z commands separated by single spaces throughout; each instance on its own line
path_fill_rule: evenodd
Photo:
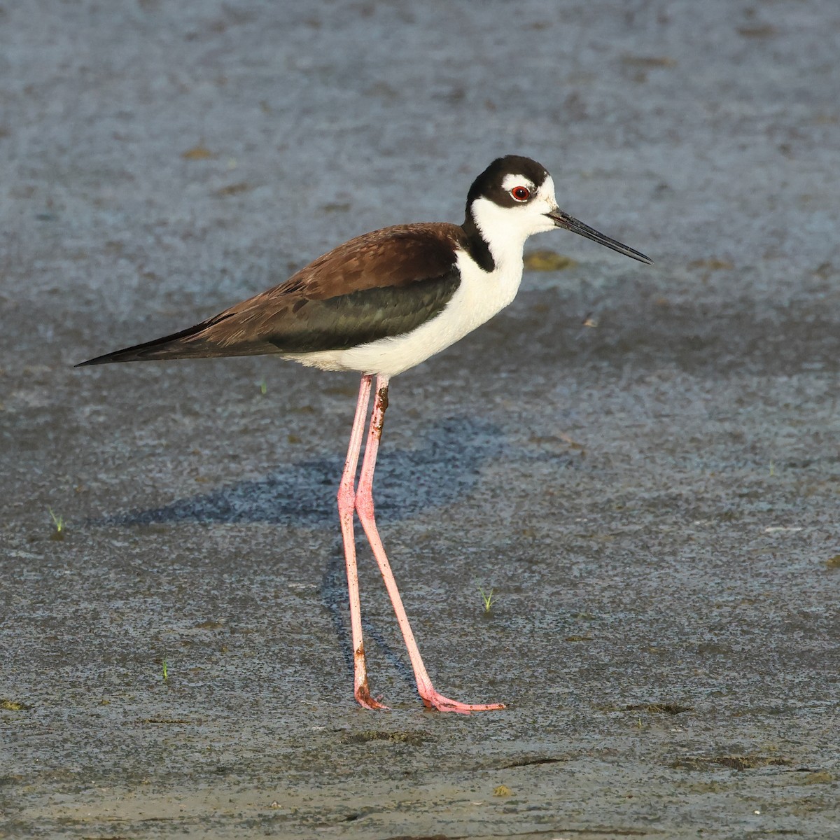
M 522 252 L 496 270 L 481 270 L 459 251 L 461 281 L 443 312 L 412 330 L 389 339 L 378 339 L 346 350 L 284 354 L 285 359 L 322 370 L 357 370 L 365 374 L 396 376 L 419 365 L 441 350 L 463 339 L 516 297 L 522 281 Z

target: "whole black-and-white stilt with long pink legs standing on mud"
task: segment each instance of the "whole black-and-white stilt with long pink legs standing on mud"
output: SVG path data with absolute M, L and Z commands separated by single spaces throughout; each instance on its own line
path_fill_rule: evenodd
M 512 302 L 522 280 L 525 240 L 554 228 L 565 228 L 619 254 L 650 262 L 645 255 L 560 210 L 554 198 L 554 181 L 543 166 L 508 155 L 494 160 L 470 186 L 462 225 L 406 224 L 358 236 L 318 257 L 280 286 L 195 327 L 81 363 L 271 353 L 322 370 L 361 373 L 339 485 L 339 517 L 347 563 L 354 694 L 369 709 L 387 707 L 370 696 L 368 688 L 354 512 L 359 515 L 391 596 L 423 703 L 440 711 L 504 708 L 501 703 L 478 705 L 450 700 L 432 685 L 376 529 L 373 473 L 391 376 L 454 344 Z M 374 375 L 374 407 L 356 485 Z

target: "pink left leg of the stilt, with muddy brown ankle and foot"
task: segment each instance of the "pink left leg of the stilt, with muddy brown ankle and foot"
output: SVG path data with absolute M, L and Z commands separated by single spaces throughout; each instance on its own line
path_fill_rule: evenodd
M 339 484 L 339 518 L 341 536 L 344 539 L 344 562 L 347 565 L 347 591 L 350 598 L 350 631 L 353 635 L 353 693 L 357 701 L 367 709 L 386 709 L 370 696 L 365 664 L 365 643 L 362 639 L 362 611 L 359 600 L 359 572 L 356 569 L 356 543 L 353 533 L 353 512 L 355 509 L 356 467 L 359 465 L 359 451 L 362 435 L 365 433 L 365 418 L 370 402 L 370 382 L 372 376 L 362 376 L 359 386 L 359 402 L 353 418 L 353 430 L 350 432 L 350 445 L 344 473 Z

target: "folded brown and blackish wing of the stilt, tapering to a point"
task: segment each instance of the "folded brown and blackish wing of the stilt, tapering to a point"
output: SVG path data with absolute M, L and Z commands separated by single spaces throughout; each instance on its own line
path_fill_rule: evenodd
M 406 333 L 458 288 L 456 247 L 465 247 L 465 234 L 454 224 L 383 228 L 195 327 L 81 364 L 307 353 Z

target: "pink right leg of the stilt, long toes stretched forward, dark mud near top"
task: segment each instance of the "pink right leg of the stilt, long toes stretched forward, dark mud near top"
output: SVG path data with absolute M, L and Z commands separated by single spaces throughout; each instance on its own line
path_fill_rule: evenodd
M 476 705 L 472 703 L 460 703 L 457 700 L 450 700 L 444 697 L 432 685 L 420 651 L 417 649 L 417 642 L 414 640 L 411 625 L 408 623 L 405 608 L 402 606 L 402 598 L 396 588 L 396 580 L 391 571 L 391 564 L 382 547 L 379 532 L 376 530 L 376 521 L 373 509 L 373 471 L 376 466 L 376 452 L 379 449 L 380 438 L 382 437 L 382 423 L 385 420 L 385 410 L 388 407 L 388 377 L 376 377 L 376 395 L 373 404 L 373 413 L 370 416 L 370 432 L 368 433 L 367 444 L 365 444 L 365 459 L 362 461 L 362 471 L 359 476 L 359 486 L 356 489 L 356 512 L 359 514 L 362 528 L 365 528 L 370 548 L 373 549 L 376 562 L 382 573 L 382 580 L 385 581 L 388 595 L 391 596 L 391 604 L 394 606 L 396 621 L 402 630 L 402 638 L 408 648 L 408 656 L 412 661 L 414 678 L 417 680 L 417 692 L 423 698 L 423 703 L 428 708 L 438 711 L 487 711 L 488 709 L 503 709 L 503 703 L 488 703 Z

